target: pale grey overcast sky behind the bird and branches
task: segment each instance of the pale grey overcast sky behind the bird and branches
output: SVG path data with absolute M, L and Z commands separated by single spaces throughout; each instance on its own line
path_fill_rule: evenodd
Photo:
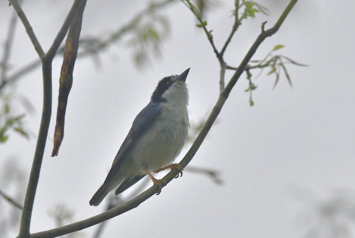
M 72 1 L 26 1 L 26 13 L 39 42 L 48 50 Z M 119 3 L 120 2 L 120 3 Z M 109 33 L 126 23 L 146 4 L 143 1 L 88 1 L 82 36 Z M 258 14 L 244 22 L 233 38 L 225 59 L 239 65 L 268 20 L 273 26 L 288 1 L 259 1 L 270 16 Z M 230 32 L 233 1 L 220 1 L 207 15 L 220 49 Z M 265 40 L 253 59 L 261 59 L 276 44 L 277 53 L 299 63 L 288 65 L 293 89 L 284 75 L 272 90 L 268 70 L 255 80 L 255 106 L 249 106 L 245 75 L 225 103 L 200 150 L 190 163 L 221 172 L 224 184 L 203 175 L 185 172 L 159 196 L 137 209 L 111 219 L 103 237 L 300 237 L 307 226 L 300 212 L 307 212 L 312 193 L 329 199 L 334 189 L 355 189 L 355 2 L 300 0 L 280 30 Z M 0 36 L 4 43 L 12 7 L 0 1 Z M 59 156 L 51 158 L 48 139 L 35 198 L 31 232 L 54 228 L 48 210 L 64 203 L 75 211 L 75 221 L 104 209 L 89 206 L 132 121 L 149 102 L 158 80 L 191 67 L 190 120 L 196 122 L 212 110 L 218 98 L 219 64 L 196 21 L 180 2 L 167 7 L 171 34 L 159 59 L 137 70 L 131 50 L 122 43 L 100 54 L 100 67 L 91 59 L 75 64 L 74 81 L 65 118 L 65 137 Z M 22 25 L 17 26 L 11 63 L 15 68 L 35 59 Z M 61 57 L 53 64 L 53 113 L 49 137 L 53 138 Z M 229 71 L 226 79 L 233 72 Z M 254 76 L 257 71 L 254 71 Z M 17 92 L 35 107 L 27 117 L 37 135 L 42 110 L 40 69 L 17 83 Z M 20 112 L 20 108 L 18 108 Z M 29 171 L 36 138 L 10 134 L 0 147 L 0 166 L 9 158 Z M 184 150 L 177 161 L 185 155 Z M 158 177 L 163 176 L 159 174 Z M 310 193 L 304 191 L 309 190 Z M 2 203 L 2 207 L 8 205 Z M 95 227 L 82 231 L 90 237 Z

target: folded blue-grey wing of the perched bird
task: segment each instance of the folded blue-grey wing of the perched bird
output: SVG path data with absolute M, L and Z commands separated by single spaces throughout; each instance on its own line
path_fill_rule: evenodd
M 139 138 L 157 119 L 161 113 L 161 107 L 158 103 L 150 102 L 144 107 L 133 121 L 132 128 L 128 132 L 126 139 L 123 141 L 117 155 L 112 163 L 110 172 L 118 171 L 122 161 L 125 159 L 127 152 L 132 150 L 135 145 L 136 139 Z M 110 174 L 109 172 L 109 174 Z

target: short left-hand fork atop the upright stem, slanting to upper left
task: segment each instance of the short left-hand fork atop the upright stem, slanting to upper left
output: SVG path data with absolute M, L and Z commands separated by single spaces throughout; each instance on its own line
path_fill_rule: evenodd
M 39 44 L 36 35 L 33 32 L 31 24 L 29 24 L 29 21 L 27 20 L 26 15 L 24 14 L 20 5 L 18 4 L 18 1 L 17 0 L 9 0 L 9 2 L 13 6 L 13 8 L 16 10 L 18 17 L 22 21 L 23 26 L 26 29 L 26 32 L 28 34 L 28 37 L 29 37 L 29 39 L 31 39 L 31 42 L 32 42 L 34 49 L 36 50 L 39 58 L 42 58 L 44 56 L 44 51 L 43 51 L 41 45 Z

